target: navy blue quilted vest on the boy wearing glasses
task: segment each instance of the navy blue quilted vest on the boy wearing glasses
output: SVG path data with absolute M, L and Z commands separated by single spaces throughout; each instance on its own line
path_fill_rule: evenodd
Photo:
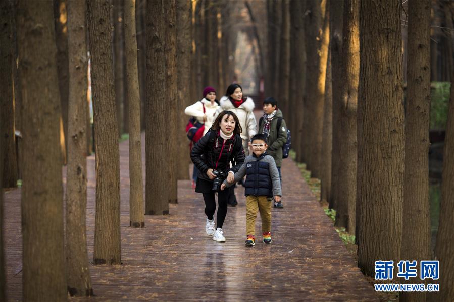
M 260 161 L 266 155 L 268 154 L 263 153 L 256 161 L 246 163 L 247 177 L 244 183 L 244 195 L 273 196 L 269 163 Z M 253 156 L 255 157 L 255 155 Z

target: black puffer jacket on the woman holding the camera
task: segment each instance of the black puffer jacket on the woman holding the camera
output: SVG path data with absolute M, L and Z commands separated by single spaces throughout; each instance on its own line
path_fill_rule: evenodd
M 243 143 L 239 134 L 224 141 L 219 131 L 214 130 L 210 130 L 199 139 L 191 151 L 191 160 L 201 172 L 198 177 L 207 180 L 211 180 L 207 175 L 208 169 L 221 170 L 226 174 L 228 171 L 236 173 L 244 158 Z

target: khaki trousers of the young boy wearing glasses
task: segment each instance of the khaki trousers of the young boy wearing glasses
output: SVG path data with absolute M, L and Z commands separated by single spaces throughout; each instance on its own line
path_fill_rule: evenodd
M 257 211 L 262 217 L 262 232 L 271 232 L 271 202 L 266 196 L 246 196 L 246 236 L 256 234 Z

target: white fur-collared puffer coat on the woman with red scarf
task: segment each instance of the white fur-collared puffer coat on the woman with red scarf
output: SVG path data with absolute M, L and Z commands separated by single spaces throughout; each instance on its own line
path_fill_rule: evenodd
M 223 110 L 229 110 L 235 113 L 238 117 L 239 124 L 243 129 L 243 132 L 241 132 L 241 138 L 243 141 L 248 141 L 251 137 L 257 134 L 257 120 L 253 112 L 255 105 L 254 101 L 250 97 L 248 97 L 238 108 L 233 106 L 228 96 L 223 96 L 220 99 L 219 104 L 220 107 L 216 112 L 216 116 Z

